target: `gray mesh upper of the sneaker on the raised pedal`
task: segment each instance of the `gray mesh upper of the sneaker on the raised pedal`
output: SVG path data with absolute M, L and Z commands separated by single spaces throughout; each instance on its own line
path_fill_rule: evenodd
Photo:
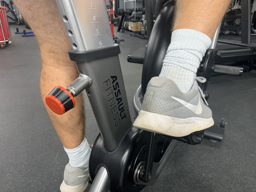
M 203 103 L 198 89 L 198 84 L 195 81 L 188 93 L 182 93 L 171 79 L 153 77 L 147 86 L 141 110 L 180 119 L 189 117 L 211 118 L 212 111 Z M 202 113 L 199 115 L 195 114 L 192 110 L 185 107 L 184 104 L 173 98 L 178 98 L 192 105 L 198 105 L 200 98 Z

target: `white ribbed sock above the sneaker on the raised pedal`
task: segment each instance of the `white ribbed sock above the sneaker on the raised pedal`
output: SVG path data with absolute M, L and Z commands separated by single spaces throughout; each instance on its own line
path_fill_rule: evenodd
M 189 92 L 197 68 L 211 43 L 211 38 L 199 31 L 174 30 L 159 76 L 170 78 L 183 93 Z

